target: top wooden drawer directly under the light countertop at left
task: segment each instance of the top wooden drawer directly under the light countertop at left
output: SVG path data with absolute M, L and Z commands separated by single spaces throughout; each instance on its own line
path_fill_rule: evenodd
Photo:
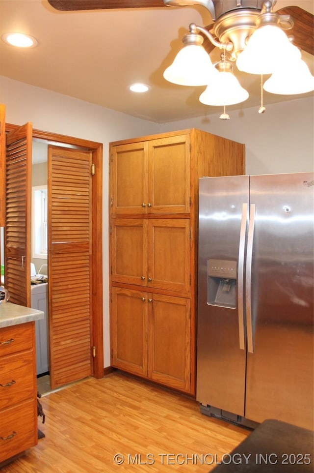
M 33 348 L 33 322 L 0 328 L 0 356 Z

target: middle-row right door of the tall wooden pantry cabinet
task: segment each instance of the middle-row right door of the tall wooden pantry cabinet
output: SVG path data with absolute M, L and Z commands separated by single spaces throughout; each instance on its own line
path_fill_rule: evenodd
M 190 221 L 183 218 L 148 222 L 148 286 L 190 291 Z

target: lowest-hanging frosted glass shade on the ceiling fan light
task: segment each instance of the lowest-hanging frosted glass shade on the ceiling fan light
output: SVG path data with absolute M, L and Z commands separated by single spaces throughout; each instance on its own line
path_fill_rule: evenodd
M 217 72 L 209 86 L 200 96 L 205 105 L 233 105 L 244 102 L 248 98 L 247 90 L 243 89 L 232 72 Z

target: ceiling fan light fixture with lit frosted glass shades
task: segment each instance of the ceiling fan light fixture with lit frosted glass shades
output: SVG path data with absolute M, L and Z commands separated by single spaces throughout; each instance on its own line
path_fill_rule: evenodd
M 172 5 L 177 2 L 183 5 L 186 2 L 164 1 Z M 206 28 L 194 23 L 189 25 L 189 33 L 183 37 L 183 49 L 163 73 L 167 81 L 183 86 L 207 85 L 199 98 L 205 105 L 235 105 L 249 97 L 248 91 L 241 87 L 232 72 L 232 64 L 236 63 L 239 71 L 257 74 L 261 78 L 272 74 L 264 88 L 261 81 L 261 94 L 264 89 L 287 95 L 314 90 L 314 77 L 302 61 L 300 51 L 304 49 L 313 54 L 307 37 L 308 24 L 313 23 L 312 14 L 299 7 L 286 7 L 273 12 L 274 0 L 243 0 L 243 5 L 242 0 L 208 1 L 214 4 L 214 24 Z M 301 33 L 299 30 L 302 28 L 305 31 Z M 288 37 L 285 30 L 290 30 L 295 35 L 300 49 L 292 44 L 293 36 Z M 211 43 L 206 44 L 206 49 L 203 48 L 204 37 Z M 209 52 L 213 48 L 223 51 L 222 59 L 214 66 L 209 59 Z M 291 81 L 287 75 L 292 78 L 296 73 L 297 79 L 292 81 L 293 87 L 288 86 Z M 264 111 L 261 101 L 259 113 Z M 224 112 L 220 118 L 229 117 Z

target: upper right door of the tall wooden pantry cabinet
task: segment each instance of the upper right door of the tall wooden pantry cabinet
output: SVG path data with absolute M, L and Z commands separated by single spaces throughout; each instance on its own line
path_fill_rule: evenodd
M 148 142 L 148 212 L 189 213 L 189 135 Z

